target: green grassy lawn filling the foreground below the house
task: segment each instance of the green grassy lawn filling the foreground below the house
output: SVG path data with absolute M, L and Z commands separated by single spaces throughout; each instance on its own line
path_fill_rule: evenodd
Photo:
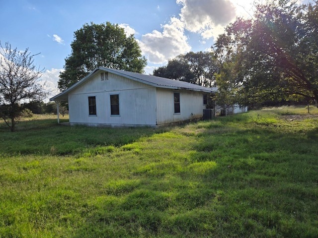
M 44 117 L 0 124 L 0 142 L 1 238 L 318 236 L 305 107 L 158 129 Z

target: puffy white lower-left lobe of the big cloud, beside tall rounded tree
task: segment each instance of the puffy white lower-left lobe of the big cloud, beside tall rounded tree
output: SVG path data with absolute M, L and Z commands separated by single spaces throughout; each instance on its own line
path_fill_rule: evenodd
M 184 35 L 184 23 L 180 19 L 171 17 L 170 22 L 161 28 L 162 32 L 154 30 L 143 35 L 139 41 L 142 52 L 150 62 L 163 63 L 191 50 Z

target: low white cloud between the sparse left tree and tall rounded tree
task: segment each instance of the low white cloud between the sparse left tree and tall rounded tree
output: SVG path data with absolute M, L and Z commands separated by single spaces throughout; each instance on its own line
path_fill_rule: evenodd
M 51 70 L 47 69 L 42 74 L 40 83 L 44 85 L 45 90 L 49 92 L 48 97 L 44 100 L 45 102 L 48 102 L 51 97 L 60 93 L 58 81 L 60 72 L 62 71 L 64 71 L 64 69 L 52 68 Z

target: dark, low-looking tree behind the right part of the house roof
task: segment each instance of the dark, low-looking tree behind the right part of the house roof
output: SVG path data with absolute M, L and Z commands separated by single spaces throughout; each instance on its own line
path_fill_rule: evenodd
M 214 84 L 214 74 L 218 71 L 218 64 L 210 52 L 189 52 L 168 60 L 166 66 L 154 70 L 155 76 L 190 82 L 197 85 L 211 87 Z

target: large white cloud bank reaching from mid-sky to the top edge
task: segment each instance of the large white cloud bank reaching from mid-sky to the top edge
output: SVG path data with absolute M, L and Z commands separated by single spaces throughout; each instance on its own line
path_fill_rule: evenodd
M 187 32 L 200 34 L 201 44 L 212 37 L 216 39 L 238 15 L 249 16 L 252 1 L 176 0 L 177 4 L 182 5 L 180 14 L 161 25 L 160 31 L 143 35 L 138 41 L 141 50 L 150 63 L 165 63 L 191 50 Z

